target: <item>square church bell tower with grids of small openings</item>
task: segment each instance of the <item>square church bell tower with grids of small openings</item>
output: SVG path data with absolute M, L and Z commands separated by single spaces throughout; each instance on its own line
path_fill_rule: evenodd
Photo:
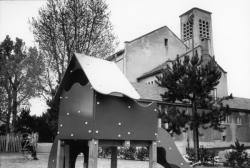
M 203 54 L 214 56 L 211 12 L 192 8 L 180 15 L 180 23 L 181 40 L 190 49 L 201 45 Z

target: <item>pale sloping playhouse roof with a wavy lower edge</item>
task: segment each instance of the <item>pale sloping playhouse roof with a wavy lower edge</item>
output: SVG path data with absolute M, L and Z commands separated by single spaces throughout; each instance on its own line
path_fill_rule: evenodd
M 120 93 L 132 99 L 140 95 L 114 62 L 75 53 L 93 89 L 101 94 Z

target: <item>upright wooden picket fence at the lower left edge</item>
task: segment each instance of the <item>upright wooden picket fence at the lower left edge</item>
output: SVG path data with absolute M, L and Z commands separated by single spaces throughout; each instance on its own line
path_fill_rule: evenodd
M 21 135 L 2 135 L 0 136 L 0 152 L 20 152 Z

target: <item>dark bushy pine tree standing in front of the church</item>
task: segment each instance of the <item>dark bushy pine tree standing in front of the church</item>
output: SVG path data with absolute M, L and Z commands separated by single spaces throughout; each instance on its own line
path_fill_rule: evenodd
M 179 134 L 186 126 L 193 131 L 196 161 L 199 160 L 199 127 L 222 130 L 221 122 L 229 114 L 229 107 L 223 106 L 223 100 L 229 97 L 215 99 L 211 94 L 220 78 L 221 71 L 215 60 L 211 58 L 204 63 L 197 53 L 192 58 L 177 56 L 157 77 L 158 84 L 167 88 L 161 95 L 164 101 L 181 102 L 192 108 L 191 114 L 172 108 L 168 112 L 170 115 L 161 113 L 161 116 L 169 122 L 170 132 Z

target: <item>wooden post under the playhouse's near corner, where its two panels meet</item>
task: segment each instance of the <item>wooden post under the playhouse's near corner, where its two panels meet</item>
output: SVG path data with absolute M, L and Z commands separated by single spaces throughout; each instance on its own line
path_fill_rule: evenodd
M 97 168 L 97 158 L 98 158 L 98 140 L 92 139 L 89 141 L 88 168 Z

